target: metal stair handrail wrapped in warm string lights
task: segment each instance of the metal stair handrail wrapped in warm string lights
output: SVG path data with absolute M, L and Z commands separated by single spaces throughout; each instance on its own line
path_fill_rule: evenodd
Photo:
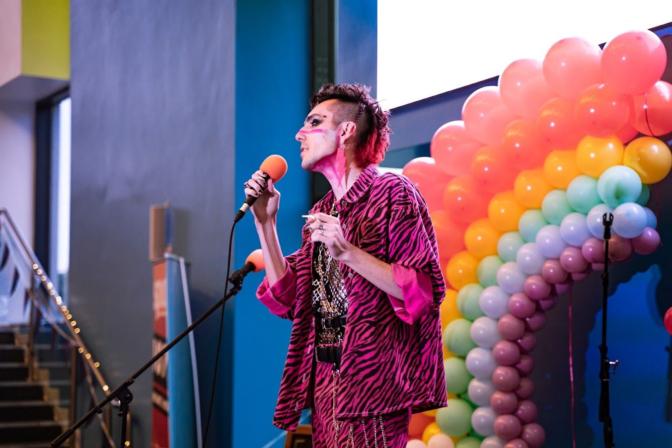
M 75 320 L 72 320 L 72 315 L 69 314 L 67 311 L 67 307 L 62 303 L 62 298 L 60 295 L 58 295 L 58 292 L 56 292 L 56 289 L 54 288 L 54 285 L 52 281 L 50 280 L 50 277 L 46 273 L 46 270 L 38 260 L 37 256 L 33 252 L 32 248 L 26 242 L 26 238 L 24 238 L 24 235 L 21 233 L 19 228 L 17 227 L 16 223 L 14 222 L 13 218 L 9 214 L 6 208 L 0 208 L 0 218 L 5 217 L 5 220 L 9 226 L 9 230 L 11 230 L 10 233 L 10 238 L 13 236 L 13 239 L 15 239 L 15 242 L 17 242 L 21 249 L 22 249 L 22 255 L 24 257 L 24 263 L 26 263 L 26 269 L 32 269 L 32 273 L 35 278 L 38 279 L 42 287 L 44 287 L 44 290 L 46 291 L 46 296 L 48 300 L 53 300 L 52 304 L 58 307 L 60 312 L 63 315 L 64 322 L 69 322 L 68 325 L 66 325 L 66 328 L 69 330 L 69 334 L 66 334 L 62 328 L 60 328 L 56 322 L 52 322 L 52 320 L 49 318 L 49 313 L 48 312 L 42 312 L 42 316 L 45 318 L 45 320 L 60 334 L 64 339 L 69 341 L 73 347 L 77 349 L 77 352 L 79 352 L 79 355 L 85 363 L 84 365 L 84 370 L 86 373 L 87 377 L 87 382 L 88 382 L 88 388 L 89 388 L 89 393 L 91 394 L 94 402 L 97 400 L 95 398 L 95 388 L 93 385 L 93 382 L 91 381 L 91 375 L 89 372 L 93 373 L 93 376 L 95 377 L 97 383 L 99 386 L 101 386 L 101 390 L 103 393 L 108 396 L 110 394 L 109 391 L 109 386 L 106 380 L 103 378 L 102 373 L 100 372 L 99 369 L 99 363 L 94 361 L 93 355 L 91 355 L 91 351 L 87 349 L 86 345 L 82 341 L 82 339 L 79 337 L 79 326 L 76 325 Z M 1 222 L 1 220 L 0 220 Z M 13 234 L 13 235 L 12 235 Z M 30 266 L 30 268 L 28 267 Z M 31 285 L 31 291 L 30 291 L 30 302 L 32 306 L 35 306 L 36 308 L 40 308 L 40 304 L 38 303 L 38 300 L 36 300 L 35 294 L 34 294 L 34 285 Z M 31 308 L 30 311 L 30 318 L 31 320 L 33 319 L 33 310 Z M 73 325 L 73 323 L 75 325 Z M 30 334 L 32 334 L 32 328 L 30 329 Z M 30 341 L 29 341 L 30 342 Z M 32 362 L 30 362 L 32 364 Z M 30 367 L 30 366 L 29 366 Z M 75 369 L 75 365 L 73 365 L 73 369 Z M 88 367 L 88 368 L 87 368 Z M 31 373 L 32 377 L 32 373 Z M 73 385 L 74 386 L 74 385 Z M 74 406 L 74 404 L 71 404 L 71 406 Z M 99 416 L 101 417 L 101 416 Z M 110 435 L 110 430 L 108 429 L 106 423 L 103 421 L 102 418 L 100 418 L 100 423 L 101 427 L 103 429 L 103 433 L 106 436 L 106 439 L 108 439 L 108 443 L 110 443 L 110 446 L 114 447 L 114 441 L 112 440 L 112 437 Z M 130 438 L 127 438 L 126 440 L 130 440 Z

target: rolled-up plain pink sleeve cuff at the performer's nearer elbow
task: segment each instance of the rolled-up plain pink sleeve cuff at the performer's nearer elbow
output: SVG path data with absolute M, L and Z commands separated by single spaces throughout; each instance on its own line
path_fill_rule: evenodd
M 431 310 L 433 289 L 429 273 L 392 263 L 394 281 L 401 288 L 401 298 L 388 294 L 398 318 L 413 324 Z

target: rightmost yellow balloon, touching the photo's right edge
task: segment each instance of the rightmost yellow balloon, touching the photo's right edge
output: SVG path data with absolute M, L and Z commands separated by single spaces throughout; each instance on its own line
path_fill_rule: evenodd
M 626 146 L 623 165 L 637 172 L 642 183 L 665 179 L 672 168 L 672 153 L 663 140 L 653 137 L 635 138 Z

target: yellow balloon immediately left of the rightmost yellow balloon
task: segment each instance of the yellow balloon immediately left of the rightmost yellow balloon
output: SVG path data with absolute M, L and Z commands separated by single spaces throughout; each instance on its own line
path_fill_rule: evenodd
M 617 136 L 585 136 L 577 146 L 577 165 L 583 173 L 599 177 L 607 168 L 623 163 L 623 143 Z

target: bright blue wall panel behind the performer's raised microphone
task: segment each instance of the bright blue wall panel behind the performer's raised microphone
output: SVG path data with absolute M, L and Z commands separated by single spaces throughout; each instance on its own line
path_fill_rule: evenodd
M 300 168 L 294 134 L 308 112 L 310 42 L 308 0 L 239 1 L 236 23 L 236 203 L 241 185 L 270 154 L 287 159 L 278 233 L 286 255 L 300 245 L 309 177 Z M 235 264 L 259 248 L 251 214 L 237 225 Z M 255 298 L 263 273 L 249 275 L 235 298 L 233 445 L 262 447 L 281 431 L 271 420 L 287 353 L 291 322 L 270 314 Z M 284 446 L 284 437 L 273 445 Z

